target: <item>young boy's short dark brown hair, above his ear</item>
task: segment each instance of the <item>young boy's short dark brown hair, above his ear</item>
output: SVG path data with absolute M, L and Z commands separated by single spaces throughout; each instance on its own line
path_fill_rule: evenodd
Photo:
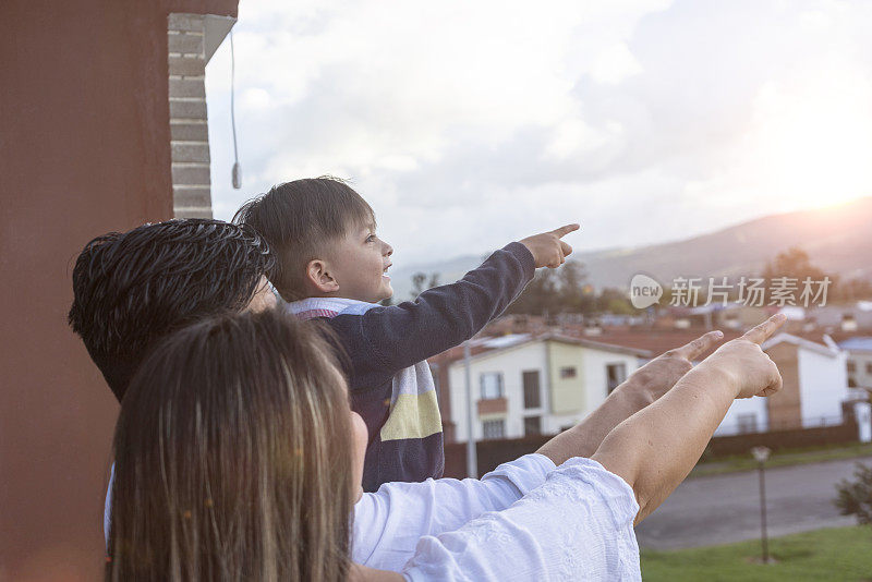
M 272 186 L 246 202 L 233 222 L 247 225 L 269 243 L 276 265 L 269 280 L 287 301 L 304 299 L 308 262 L 343 237 L 350 227 L 372 222 L 375 214 L 360 194 L 331 177 L 306 178 Z

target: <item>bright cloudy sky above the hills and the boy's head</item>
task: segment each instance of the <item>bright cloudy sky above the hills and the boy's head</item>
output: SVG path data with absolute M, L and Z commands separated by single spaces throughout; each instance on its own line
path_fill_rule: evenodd
M 324 174 L 395 265 L 577 250 L 872 195 L 872 2 L 241 0 L 206 69 L 213 207 Z

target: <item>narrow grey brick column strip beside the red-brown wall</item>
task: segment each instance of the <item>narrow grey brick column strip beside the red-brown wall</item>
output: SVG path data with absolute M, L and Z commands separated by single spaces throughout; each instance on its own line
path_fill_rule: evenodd
M 211 218 L 206 48 L 203 14 L 170 14 L 170 147 L 177 218 Z

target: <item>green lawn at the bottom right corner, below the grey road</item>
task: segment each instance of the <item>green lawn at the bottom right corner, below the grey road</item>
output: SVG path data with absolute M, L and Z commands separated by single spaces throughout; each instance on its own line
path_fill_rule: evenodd
M 760 541 L 724 546 L 642 551 L 642 580 L 872 581 L 872 528 L 818 530 L 770 539 L 776 563 L 762 565 Z

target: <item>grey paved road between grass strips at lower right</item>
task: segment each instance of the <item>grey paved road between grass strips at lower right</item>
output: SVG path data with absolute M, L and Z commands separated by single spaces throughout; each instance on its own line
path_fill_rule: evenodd
M 836 484 L 872 457 L 766 470 L 770 536 L 857 523 L 833 505 Z M 635 530 L 650 549 L 710 546 L 760 537 L 756 471 L 691 478 Z

